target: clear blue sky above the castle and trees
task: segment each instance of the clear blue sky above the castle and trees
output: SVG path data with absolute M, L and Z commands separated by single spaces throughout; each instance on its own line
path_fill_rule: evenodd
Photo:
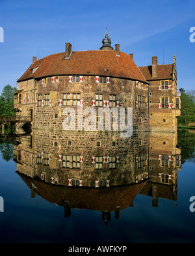
M 177 89 L 195 89 L 194 0 L 0 0 L 0 27 L 0 93 L 16 86 L 32 56 L 64 51 L 66 42 L 74 51 L 99 50 L 106 27 L 112 47 L 133 53 L 137 66 L 151 64 L 155 55 L 159 64 L 173 63 L 175 55 Z

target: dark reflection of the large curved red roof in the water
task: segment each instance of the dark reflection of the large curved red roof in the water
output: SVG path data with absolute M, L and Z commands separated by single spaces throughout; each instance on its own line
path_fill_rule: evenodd
M 18 173 L 18 172 L 17 172 Z M 34 192 L 43 199 L 64 206 L 64 201 L 69 201 L 72 208 L 87 210 L 120 210 L 129 206 L 146 182 L 129 186 L 118 186 L 110 188 L 82 188 L 49 184 L 42 180 L 32 179 L 18 173 L 23 181 L 31 188 L 31 183 L 38 190 Z M 33 190 L 33 188 L 31 188 Z

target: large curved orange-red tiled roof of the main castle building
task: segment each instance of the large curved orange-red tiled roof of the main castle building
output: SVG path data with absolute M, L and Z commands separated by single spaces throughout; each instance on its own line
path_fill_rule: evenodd
M 73 51 L 70 59 L 64 59 L 64 57 L 65 52 L 62 52 L 36 61 L 18 81 L 55 75 L 92 75 L 130 78 L 146 82 L 133 59 L 122 51 L 120 51 L 120 57 L 116 56 L 114 50 Z M 32 74 L 32 68 L 37 66 L 39 68 Z M 108 70 L 105 70 L 106 68 Z

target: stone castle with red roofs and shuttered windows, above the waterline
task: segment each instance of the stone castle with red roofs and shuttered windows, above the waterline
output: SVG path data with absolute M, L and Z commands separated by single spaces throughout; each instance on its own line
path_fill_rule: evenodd
M 32 128 L 62 130 L 66 107 L 131 107 L 133 131 L 176 132 L 181 99 L 175 56 L 172 64 L 158 64 L 155 56 L 151 66 L 138 67 L 133 53 L 123 53 L 119 44 L 112 48 L 107 33 L 102 43 L 100 50 L 88 51 L 72 51 L 66 43 L 62 53 L 32 57 L 14 93 L 17 115 L 29 117 Z M 101 118 L 97 113 L 96 125 Z M 110 122 L 113 130 L 113 115 Z

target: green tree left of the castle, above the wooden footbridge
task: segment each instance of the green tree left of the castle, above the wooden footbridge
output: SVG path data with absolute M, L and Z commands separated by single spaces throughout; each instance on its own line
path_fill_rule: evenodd
M 0 96 L 0 115 L 16 115 L 14 111 L 14 92 L 16 87 L 5 85 Z

